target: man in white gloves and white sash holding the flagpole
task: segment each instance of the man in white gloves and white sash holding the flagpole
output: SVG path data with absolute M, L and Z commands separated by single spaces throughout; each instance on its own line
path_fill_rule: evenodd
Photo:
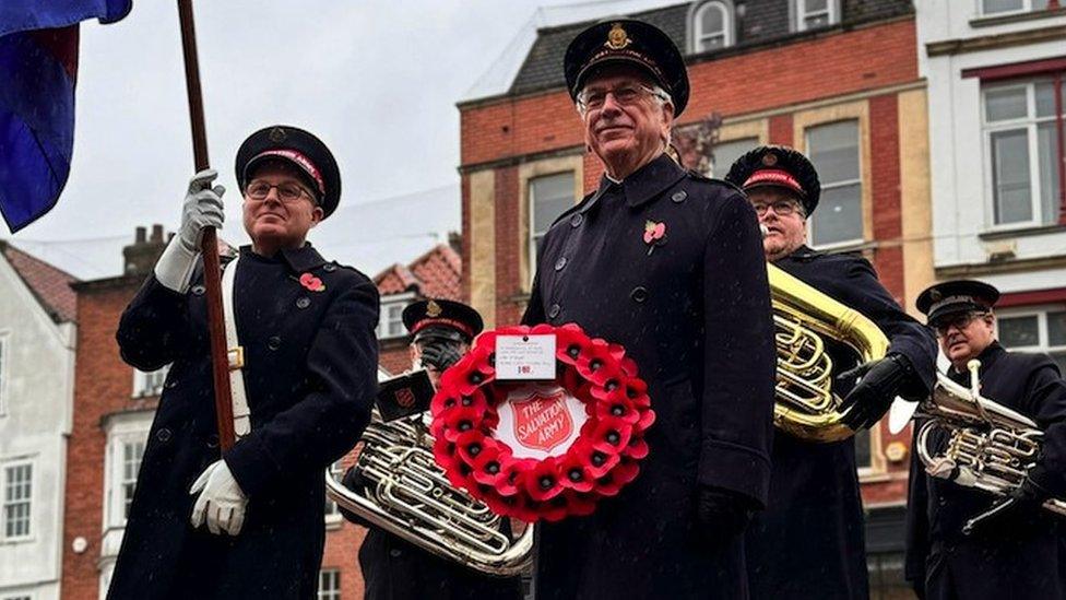
M 369 421 L 377 287 L 307 242 L 340 200 L 333 155 L 315 136 L 276 126 L 241 144 L 236 169 L 251 238 L 223 275 L 244 358 L 233 386 L 238 440 L 220 452 L 199 248 L 204 227 L 222 225 L 225 190 L 205 170 L 119 323 L 127 363 L 170 370 L 110 598 L 313 597 L 322 475 Z

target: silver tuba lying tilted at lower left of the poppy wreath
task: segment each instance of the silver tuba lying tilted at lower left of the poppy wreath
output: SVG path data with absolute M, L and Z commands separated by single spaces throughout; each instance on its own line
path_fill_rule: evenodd
M 382 422 L 377 409 L 354 469 L 366 485 L 348 490 L 325 474 L 327 495 L 368 522 L 449 561 L 510 576 L 532 564 L 533 526 L 514 537 L 504 519 L 437 467 L 423 415 Z

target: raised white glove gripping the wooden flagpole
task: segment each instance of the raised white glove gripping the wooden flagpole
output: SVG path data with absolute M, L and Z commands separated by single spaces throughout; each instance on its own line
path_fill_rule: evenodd
M 225 220 L 222 195 L 226 192 L 226 188 L 211 187 L 218 173 L 209 168 L 189 180 L 189 192 L 181 207 L 181 228 L 155 263 L 155 279 L 181 294 L 189 290 L 192 270 L 197 257 L 200 256 L 204 227 L 221 228 Z

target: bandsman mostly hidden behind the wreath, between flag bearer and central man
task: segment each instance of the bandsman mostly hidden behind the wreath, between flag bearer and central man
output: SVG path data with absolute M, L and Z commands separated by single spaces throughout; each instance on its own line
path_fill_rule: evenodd
M 473 307 L 448 299 L 425 299 L 407 305 L 403 325 L 413 334 L 410 354 L 412 369 L 425 368 L 434 388 L 440 374 L 458 363 L 481 333 L 482 316 Z M 359 473 L 348 470 L 344 484 L 363 485 Z M 519 577 L 494 577 L 446 561 L 342 510 L 352 522 L 367 527 L 359 549 L 359 566 L 366 581 L 366 600 L 518 600 L 522 597 Z

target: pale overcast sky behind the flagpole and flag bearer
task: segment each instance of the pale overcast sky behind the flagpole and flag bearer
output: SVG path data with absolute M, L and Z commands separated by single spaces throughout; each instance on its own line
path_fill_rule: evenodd
M 613 12 L 629 3 L 578 2 L 576 10 Z M 575 1 L 194 4 L 208 146 L 229 190 L 223 235 L 247 239 L 234 193 L 238 145 L 260 127 L 296 125 L 333 150 L 343 179 L 341 207 L 348 208 L 312 232 L 311 240 L 330 240 L 319 244 L 323 254 L 374 274 L 460 228 L 455 102 L 505 54 L 537 7 Z M 78 277 L 96 279 L 120 272 L 120 248 L 135 226 L 177 227 L 192 150 L 175 2 L 134 0 L 126 20 L 86 22 L 81 35 L 70 180 L 51 213 L 14 240 Z M 393 197 L 407 200 L 390 210 L 381 200 Z M 367 202 L 372 205 L 364 213 L 358 205 Z M 0 226 L 0 237 L 12 236 Z

